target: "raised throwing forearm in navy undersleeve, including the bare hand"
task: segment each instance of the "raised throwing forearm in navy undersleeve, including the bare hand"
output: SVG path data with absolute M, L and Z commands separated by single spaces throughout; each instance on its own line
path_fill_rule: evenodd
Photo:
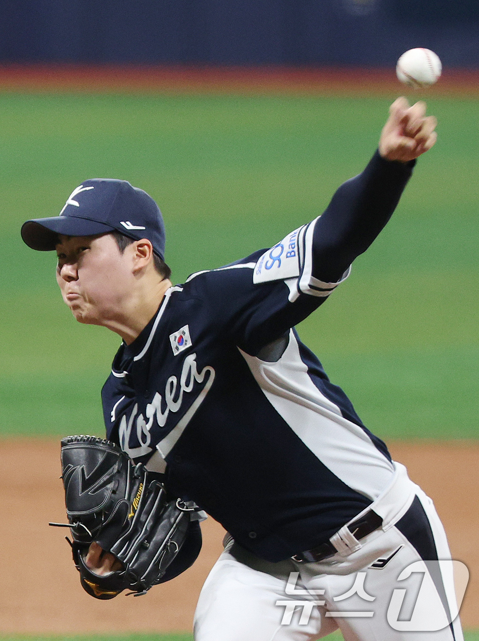
M 437 121 L 426 116 L 425 103 L 410 107 L 401 97 L 389 112 L 366 170 L 341 185 L 315 223 L 312 274 L 321 281 L 338 281 L 371 245 L 391 218 L 416 158 L 436 141 Z

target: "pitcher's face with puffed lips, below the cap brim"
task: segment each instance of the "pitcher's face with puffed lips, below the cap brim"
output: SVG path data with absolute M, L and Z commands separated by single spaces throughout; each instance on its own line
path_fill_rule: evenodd
M 56 281 L 79 322 L 103 325 L 121 317 L 130 292 L 128 247 L 121 253 L 111 234 L 60 236 Z

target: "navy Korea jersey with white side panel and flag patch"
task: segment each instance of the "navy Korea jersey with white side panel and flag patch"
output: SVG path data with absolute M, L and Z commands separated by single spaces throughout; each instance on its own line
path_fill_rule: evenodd
M 374 160 L 375 179 L 384 163 Z M 410 169 L 389 165 L 400 194 Z M 376 208 L 394 209 L 396 196 Z M 294 329 L 349 274 L 330 283 L 315 270 L 322 219 L 169 288 L 139 337 L 121 345 L 102 390 L 108 437 L 271 561 L 328 539 L 393 473 L 385 444 Z

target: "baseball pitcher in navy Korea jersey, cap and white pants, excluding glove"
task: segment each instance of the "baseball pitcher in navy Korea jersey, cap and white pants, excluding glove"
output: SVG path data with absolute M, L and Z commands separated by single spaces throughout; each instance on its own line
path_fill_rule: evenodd
M 432 501 L 294 329 L 385 226 L 435 125 L 399 98 L 378 151 L 321 216 L 183 285 L 169 279 L 158 206 L 126 181 L 87 180 L 60 216 L 22 226 L 30 247 L 56 250 L 74 317 L 122 338 L 102 390 L 108 438 L 229 533 L 196 641 L 338 627 L 347 641 L 462 640 Z M 92 543 L 90 569 L 118 563 Z

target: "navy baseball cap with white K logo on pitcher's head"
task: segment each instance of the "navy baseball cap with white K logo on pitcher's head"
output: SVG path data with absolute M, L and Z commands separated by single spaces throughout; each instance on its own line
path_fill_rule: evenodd
M 134 240 L 147 238 L 155 254 L 164 259 L 162 213 L 151 196 L 126 180 L 85 180 L 72 191 L 60 215 L 26 221 L 21 234 L 32 249 L 51 251 L 59 234 L 94 236 L 115 230 Z

